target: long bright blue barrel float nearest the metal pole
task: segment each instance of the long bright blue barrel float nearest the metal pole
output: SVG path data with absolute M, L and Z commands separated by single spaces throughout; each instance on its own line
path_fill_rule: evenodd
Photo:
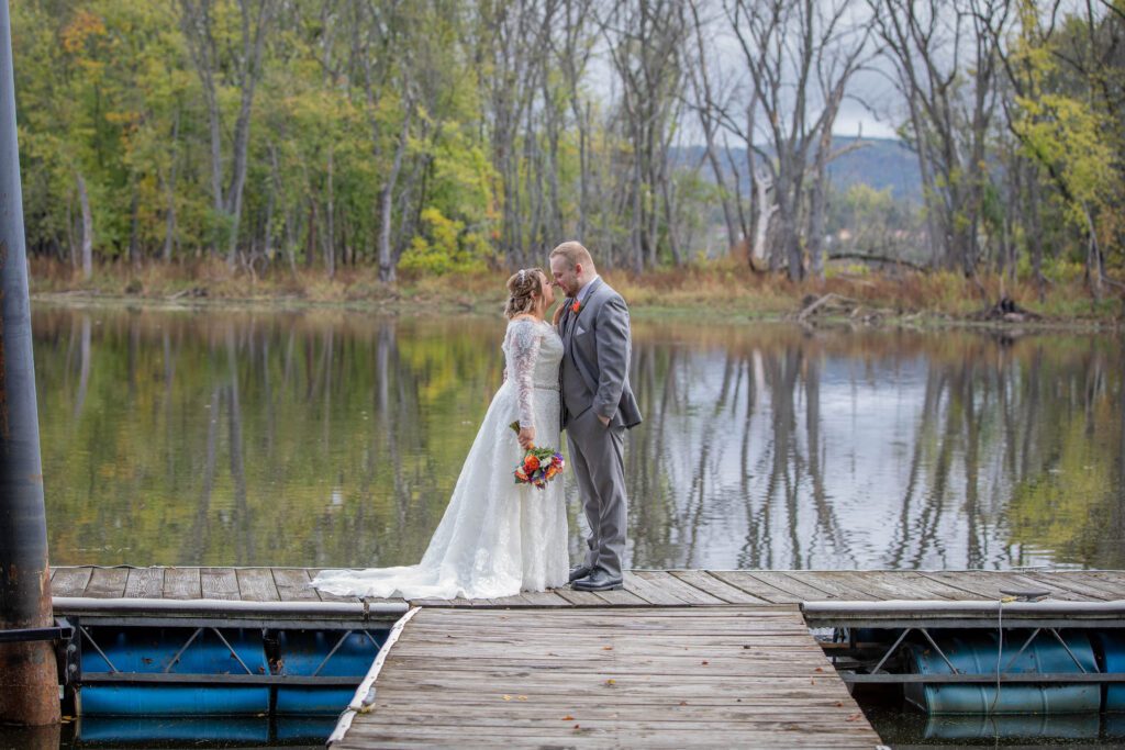
M 108 657 L 106 660 L 89 642 L 82 648 L 82 672 L 158 675 L 266 675 L 269 666 L 261 630 L 227 630 L 224 638 L 237 653 L 223 643 L 214 631 L 204 629 L 183 650 L 194 627 L 141 630 L 136 627 L 91 627 L 91 634 Z M 112 668 L 110 667 L 112 663 Z M 79 696 L 80 713 L 97 715 L 206 716 L 262 714 L 270 708 L 270 692 L 256 685 L 142 685 L 88 684 Z

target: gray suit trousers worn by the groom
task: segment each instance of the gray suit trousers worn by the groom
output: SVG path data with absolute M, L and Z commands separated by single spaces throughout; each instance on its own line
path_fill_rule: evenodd
M 612 423 L 603 425 L 595 410 L 588 408 L 570 418 L 566 432 L 582 509 L 590 524 L 586 564 L 621 578 L 629 517 L 624 491 L 626 428 Z

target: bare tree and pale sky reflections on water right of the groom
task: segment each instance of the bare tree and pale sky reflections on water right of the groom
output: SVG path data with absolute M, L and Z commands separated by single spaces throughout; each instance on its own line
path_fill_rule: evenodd
M 638 564 L 1123 562 L 1110 340 L 654 326 L 636 350 Z

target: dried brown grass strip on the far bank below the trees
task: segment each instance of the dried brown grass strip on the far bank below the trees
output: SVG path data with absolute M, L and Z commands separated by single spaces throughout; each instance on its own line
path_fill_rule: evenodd
M 693 315 L 741 314 L 782 316 L 798 313 L 810 296 L 834 292 L 881 315 L 947 316 L 962 318 L 994 304 L 1007 293 L 1020 306 L 1047 318 L 1116 319 L 1123 316 L 1119 297 L 1100 304 L 1091 300 L 1078 280 L 1050 284 L 1038 298 L 1034 283 L 1006 283 L 996 275 L 979 282 L 955 273 L 878 273 L 862 269 L 836 270 L 824 282 L 794 283 L 780 275 L 758 273 L 731 260 L 658 269 L 636 274 L 604 273 L 636 309 L 683 311 Z M 349 306 L 393 306 L 402 311 L 497 308 L 504 299 L 503 271 L 406 278 L 395 284 L 379 281 L 370 266 L 341 268 L 327 279 L 322 269 L 278 268 L 266 274 L 230 269 L 222 260 L 190 264 L 128 263 L 98 265 L 83 281 L 66 263 L 34 259 L 33 292 L 79 292 L 109 297 L 168 300 L 205 297 L 217 301 L 266 304 L 307 302 Z

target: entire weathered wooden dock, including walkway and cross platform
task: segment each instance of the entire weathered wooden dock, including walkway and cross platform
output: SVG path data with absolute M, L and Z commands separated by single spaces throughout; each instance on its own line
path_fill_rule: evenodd
M 357 600 L 304 568 L 58 568 L 55 597 Z M 1122 571 L 637 570 L 624 590 L 414 607 L 334 748 L 879 747 L 808 602 L 1125 600 Z M 369 602 L 369 603 L 370 603 Z M 1116 611 L 1116 608 L 1115 608 Z M 350 721 L 350 724 L 348 722 Z

